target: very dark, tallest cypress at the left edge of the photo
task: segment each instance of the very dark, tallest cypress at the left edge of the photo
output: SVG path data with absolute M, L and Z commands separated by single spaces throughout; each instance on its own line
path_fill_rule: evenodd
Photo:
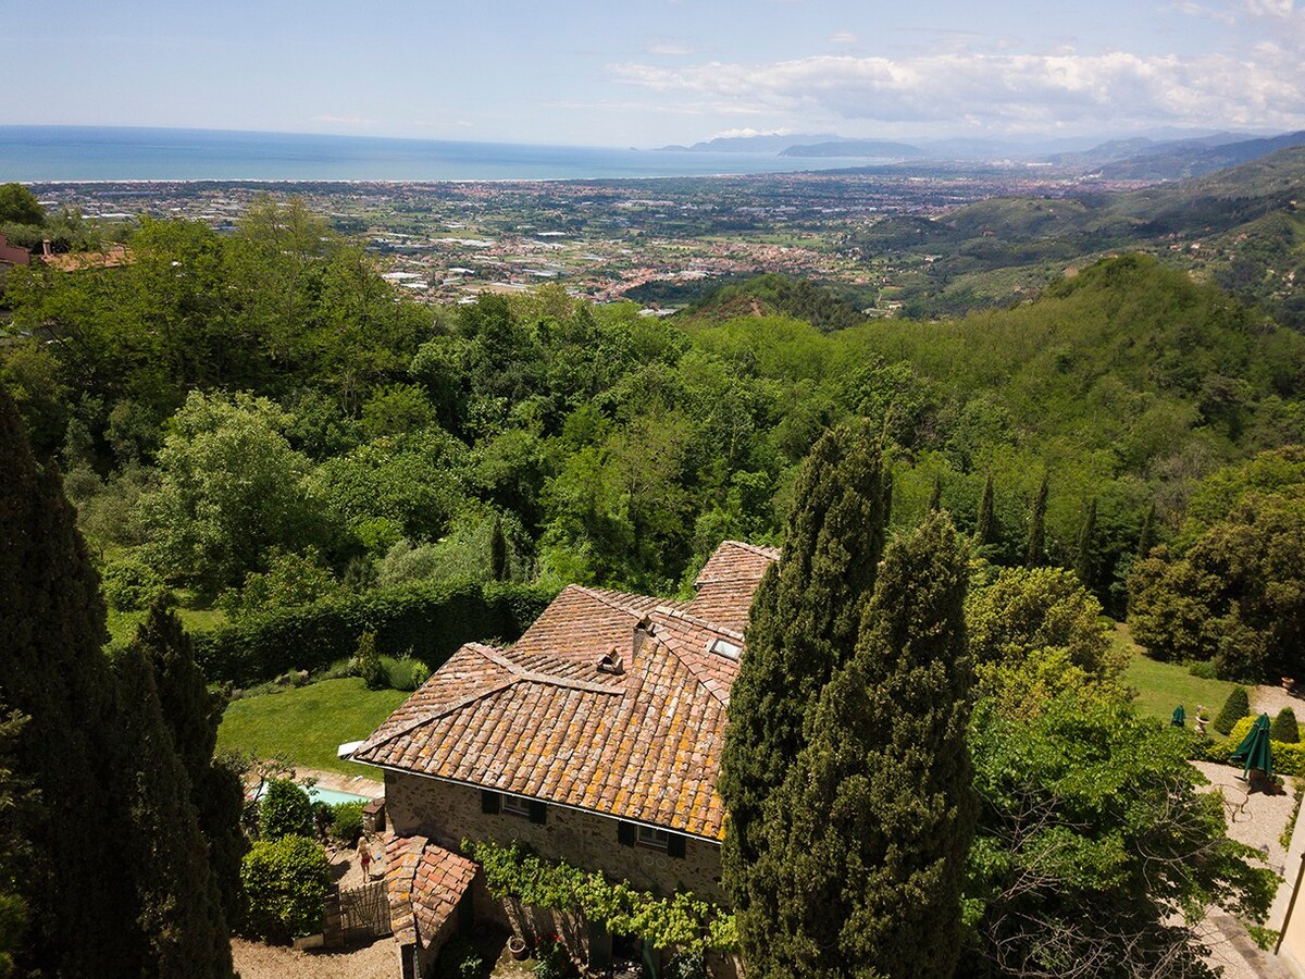
M 99 580 L 59 474 L 38 467 L 0 389 L 0 701 L 29 719 L 16 774 L 38 792 L 18 880 L 20 972 L 140 975 L 142 957 L 116 805 L 114 677 Z

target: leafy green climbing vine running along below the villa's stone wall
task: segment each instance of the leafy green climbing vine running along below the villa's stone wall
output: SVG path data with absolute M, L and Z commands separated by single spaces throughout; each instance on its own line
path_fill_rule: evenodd
M 663 898 L 637 890 L 629 881 L 612 884 L 568 863 L 544 860 L 517 843 L 462 842 L 480 864 L 495 898 L 578 911 L 586 920 L 617 935 L 638 935 L 655 948 L 688 953 L 733 952 L 739 948 L 735 918 L 719 905 L 686 892 Z

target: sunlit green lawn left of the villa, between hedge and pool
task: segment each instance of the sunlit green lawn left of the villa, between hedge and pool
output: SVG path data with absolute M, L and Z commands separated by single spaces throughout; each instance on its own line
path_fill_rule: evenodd
M 291 765 L 377 778 L 376 769 L 335 757 L 345 741 L 367 738 L 408 696 L 369 691 L 358 677 L 236 700 L 218 728 L 218 751 L 281 756 Z

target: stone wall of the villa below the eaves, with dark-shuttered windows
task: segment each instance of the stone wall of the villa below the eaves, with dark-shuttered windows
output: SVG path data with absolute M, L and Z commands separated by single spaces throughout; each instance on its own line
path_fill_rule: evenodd
M 683 858 L 617 842 L 619 821 L 595 813 L 547 808 L 543 825 L 522 816 L 482 812 L 480 790 L 407 773 L 385 773 L 386 815 L 401 837 L 429 837 L 454 852 L 463 839 L 527 843 L 544 858 L 625 878 L 636 888 L 672 894 L 692 890 L 724 902 L 720 845 L 688 837 Z M 478 902 L 476 910 L 482 911 Z

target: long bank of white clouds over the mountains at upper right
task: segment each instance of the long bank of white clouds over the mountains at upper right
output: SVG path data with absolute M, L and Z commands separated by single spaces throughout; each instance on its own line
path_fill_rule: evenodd
M 1007 132 L 1178 123 L 1298 127 L 1305 73 L 1287 47 L 1228 55 L 941 54 L 803 57 L 773 64 L 625 64 L 617 81 L 736 110 L 883 124 L 964 123 Z

